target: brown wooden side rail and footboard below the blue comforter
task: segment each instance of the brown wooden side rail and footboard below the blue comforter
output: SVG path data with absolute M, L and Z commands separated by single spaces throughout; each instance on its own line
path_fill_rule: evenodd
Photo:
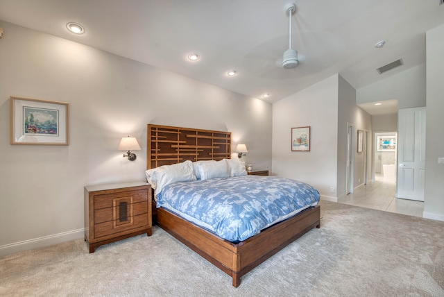
M 230 275 L 234 287 L 239 287 L 241 277 L 248 271 L 312 228 L 319 228 L 320 220 L 320 207 L 316 205 L 267 228 L 258 235 L 233 244 L 168 210 L 157 208 L 158 226 Z

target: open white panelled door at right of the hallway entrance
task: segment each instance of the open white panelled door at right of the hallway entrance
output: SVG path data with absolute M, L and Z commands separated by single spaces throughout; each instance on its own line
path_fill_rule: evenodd
M 398 189 L 396 196 L 424 201 L 425 108 L 398 113 Z

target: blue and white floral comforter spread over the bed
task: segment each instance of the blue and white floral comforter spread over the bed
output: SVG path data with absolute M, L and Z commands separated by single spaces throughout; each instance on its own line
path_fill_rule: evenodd
M 306 183 L 252 175 L 172 183 L 157 195 L 157 207 L 237 242 L 318 204 L 319 196 Z

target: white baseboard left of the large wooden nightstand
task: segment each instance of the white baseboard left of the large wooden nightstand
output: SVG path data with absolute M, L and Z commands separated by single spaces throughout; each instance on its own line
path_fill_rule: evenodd
M 0 257 L 85 237 L 85 228 L 0 246 Z

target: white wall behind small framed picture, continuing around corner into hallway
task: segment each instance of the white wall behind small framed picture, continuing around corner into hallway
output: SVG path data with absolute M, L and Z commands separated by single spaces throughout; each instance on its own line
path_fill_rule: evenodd
M 371 135 L 370 114 L 356 105 L 355 88 L 339 74 L 274 103 L 273 175 L 309 183 L 324 199 L 337 201 L 345 195 L 347 123 L 355 125 L 356 134 L 367 129 Z M 311 126 L 309 152 L 291 151 L 291 128 L 298 126 Z M 364 153 L 357 153 L 357 135 L 352 153 L 357 187 L 364 182 Z

